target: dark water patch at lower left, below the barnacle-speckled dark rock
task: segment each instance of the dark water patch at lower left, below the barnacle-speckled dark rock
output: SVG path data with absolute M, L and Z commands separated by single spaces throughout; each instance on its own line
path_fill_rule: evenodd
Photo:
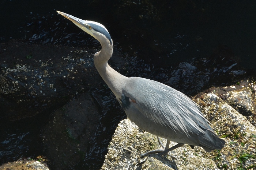
M 43 155 L 40 127 L 47 122 L 51 111 L 16 121 L 0 119 L 0 164 Z

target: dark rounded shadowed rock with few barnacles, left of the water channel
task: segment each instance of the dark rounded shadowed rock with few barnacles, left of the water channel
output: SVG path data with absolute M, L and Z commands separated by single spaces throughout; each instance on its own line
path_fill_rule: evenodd
M 101 107 L 89 93 L 53 113 L 52 119 L 42 128 L 46 157 L 55 170 L 72 169 L 83 161 L 101 118 Z

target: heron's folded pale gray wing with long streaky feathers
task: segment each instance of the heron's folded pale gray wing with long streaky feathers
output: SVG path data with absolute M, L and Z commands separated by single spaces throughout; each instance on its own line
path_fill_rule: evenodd
M 183 93 L 154 80 L 129 78 L 123 94 L 136 100 L 148 119 L 182 133 L 205 134 L 211 129 L 196 103 Z

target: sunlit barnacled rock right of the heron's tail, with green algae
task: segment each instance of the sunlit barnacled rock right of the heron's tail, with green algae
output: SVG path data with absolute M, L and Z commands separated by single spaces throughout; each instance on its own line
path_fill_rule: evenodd
M 215 161 L 219 168 L 238 169 L 245 166 L 246 161 L 256 163 L 256 129 L 245 116 L 237 112 L 227 102 L 215 94 L 205 94 L 197 103 L 202 107 L 206 119 L 212 123 L 215 132 L 226 141 L 225 147 L 205 156 Z M 213 154 L 214 153 L 214 154 Z M 252 155 L 246 157 L 245 155 Z

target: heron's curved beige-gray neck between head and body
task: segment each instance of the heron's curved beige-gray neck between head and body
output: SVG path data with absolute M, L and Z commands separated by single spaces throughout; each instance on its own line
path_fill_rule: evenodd
M 124 80 L 127 79 L 127 77 L 121 75 L 109 66 L 108 60 L 112 55 L 113 47 L 109 49 L 111 51 L 106 50 L 108 49 L 102 48 L 100 52 L 94 55 L 94 65 L 114 95 L 116 95 L 117 98 L 121 98 L 123 91 L 122 86 L 124 86 Z

